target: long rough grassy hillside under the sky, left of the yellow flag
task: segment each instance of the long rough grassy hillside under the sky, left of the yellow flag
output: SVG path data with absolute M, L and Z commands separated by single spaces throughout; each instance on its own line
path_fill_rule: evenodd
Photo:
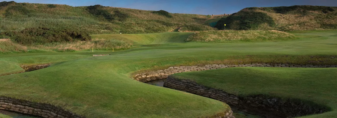
M 203 24 L 210 16 L 168 13 L 101 5 L 68 5 L 0 2 L 0 32 L 48 27 L 80 30 L 89 34 L 138 34 L 205 31 L 214 28 Z

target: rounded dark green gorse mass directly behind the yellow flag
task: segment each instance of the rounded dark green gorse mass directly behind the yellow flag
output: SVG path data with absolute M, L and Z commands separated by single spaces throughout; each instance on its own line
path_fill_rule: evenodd
M 235 15 L 221 18 L 215 25 L 218 29 L 224 29 L 226 24 L 227 29 L 250 30 L 257 29 L 260 24 L 267 23 L 269 26 L 274 26 L 275 22 L 272 17 L 263 12 L 240 11 Z

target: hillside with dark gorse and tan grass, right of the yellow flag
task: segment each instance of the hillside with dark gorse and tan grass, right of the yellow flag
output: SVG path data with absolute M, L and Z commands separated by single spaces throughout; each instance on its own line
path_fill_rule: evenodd
M 218 21 L 215 27 L 235 30 L 323 30 L 337 29 L 337 7 L 250 7 Z

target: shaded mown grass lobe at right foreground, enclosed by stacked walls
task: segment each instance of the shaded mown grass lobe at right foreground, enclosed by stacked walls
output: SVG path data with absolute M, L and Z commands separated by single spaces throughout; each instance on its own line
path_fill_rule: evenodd
M 337 108 L 337 68 L 240 67 L 184 72 L 172 76 L 194 80 L 241 97 L 262 94 Z M 331 111 L 304 118 L 326 118 L 336 113 L 337 111 Z

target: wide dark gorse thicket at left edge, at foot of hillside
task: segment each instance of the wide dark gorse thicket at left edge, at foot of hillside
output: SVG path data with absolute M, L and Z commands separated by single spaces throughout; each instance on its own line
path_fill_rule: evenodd
M 21 32 L 7 31 L 1 32 L 3 38 L 10 38 L 19 44 L 45 44 L 51 42 L 72 42 L 76 40 L 89 41 L 89 34 L 69 29 L 59 28 L 26 28 Z

